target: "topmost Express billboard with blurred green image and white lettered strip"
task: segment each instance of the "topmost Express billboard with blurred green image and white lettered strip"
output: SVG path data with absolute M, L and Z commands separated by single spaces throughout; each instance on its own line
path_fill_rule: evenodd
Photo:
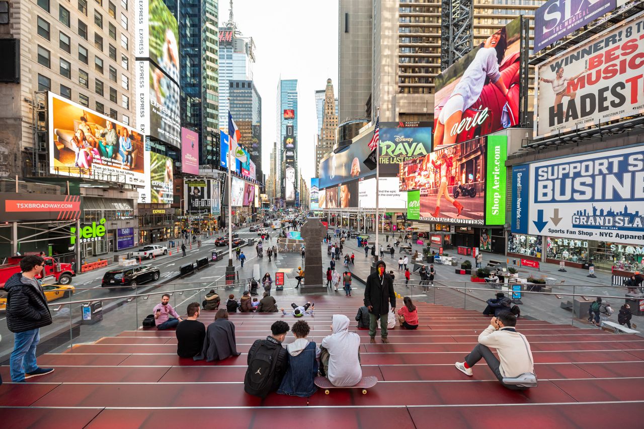
M 179 24 L 163 0 L 137 2 L 135 34 L 135 56 L 151 59 L 179 82 Z

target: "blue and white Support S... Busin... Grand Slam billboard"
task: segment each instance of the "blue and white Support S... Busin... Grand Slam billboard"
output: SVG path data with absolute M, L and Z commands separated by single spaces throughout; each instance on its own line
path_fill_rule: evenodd
M 512 232 L 641 245 L 644 146 L 513 167 Z

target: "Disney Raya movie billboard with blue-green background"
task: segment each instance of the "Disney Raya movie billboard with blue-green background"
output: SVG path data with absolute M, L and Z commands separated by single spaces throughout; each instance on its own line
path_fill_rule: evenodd
M 395 176 L 398 165 L 431 152 L 431 122 L 380 123 L 380 174 Z

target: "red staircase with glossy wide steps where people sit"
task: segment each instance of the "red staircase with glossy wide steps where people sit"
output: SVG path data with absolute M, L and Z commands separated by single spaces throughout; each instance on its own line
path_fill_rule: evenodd
M 278 305 L 289 307 L 287 298 Z M 361 298 L 315 300 L 310 339 L 330 334 L 332 314 L 352 321 Z M 241 356 L 205 363 L 176 356 L 173 331 L 126 331 L 44 354 L 50 376 L 0 386 L 0 421 L 6 428 L 473 428 L 501 421 L 526 428 L 611 426 L 644 420 L 644 339 L 596 329 L 524 320 L 539 386 L 524 392 L 502 387 L 483 362 L 474 377 L 455 361 L 488 326 L 481 314 L 418 303 L 419 329 L 390 330 L 390 344 L 369 344 L 361 335 L 363 375 L 379 383 L 366 395 L 357 389 L 318 390 L 308 398 L 271 394 L 263 401 L 243 391 L 247 351 L 270 332 L 281 314 L 232 314 Z M 202 311 L 208 324 L 214 312 Z M 355 324 L 353 324 L 355 326 Z M 285 342 L 293 341 L 292 334 Z M 0 369 L 10 379 L 8 367 Z M 601 416 L 601 417 L 600 417 Z M 599 419 L 599 420 L 598 420 Z

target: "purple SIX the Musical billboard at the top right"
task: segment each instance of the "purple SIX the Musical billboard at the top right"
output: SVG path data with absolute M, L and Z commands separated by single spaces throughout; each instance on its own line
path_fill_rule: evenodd
M 611 12 L 617 0 L 548 0 L 535 11 L 535 48 L 545 46 L 579 30 Z

